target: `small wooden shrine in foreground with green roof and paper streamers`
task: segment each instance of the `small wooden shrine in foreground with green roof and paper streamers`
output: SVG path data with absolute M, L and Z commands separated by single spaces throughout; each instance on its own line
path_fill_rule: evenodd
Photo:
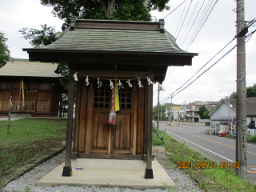
M 69 63 L 66 161 L 62 176 L 71 176 L 71 158 L 102 158 L 146 161 L 145 178 L 153 178 L 153 85 L 149 82 L 162 83 L 168 66 L 191 66 L 197 55 L 177 46 L 175 38 L 164 29 L 163 19 L 126 22 L 72 18 L 70 28 L 56 42 L 23 50 L 30 55 L 30 62 Z M 122 82 L 123 88 L 118 90 L 120 110 L 116 111 L 113 126 L 107 121 L 111 110 L 110 81 L 115 79 Z

